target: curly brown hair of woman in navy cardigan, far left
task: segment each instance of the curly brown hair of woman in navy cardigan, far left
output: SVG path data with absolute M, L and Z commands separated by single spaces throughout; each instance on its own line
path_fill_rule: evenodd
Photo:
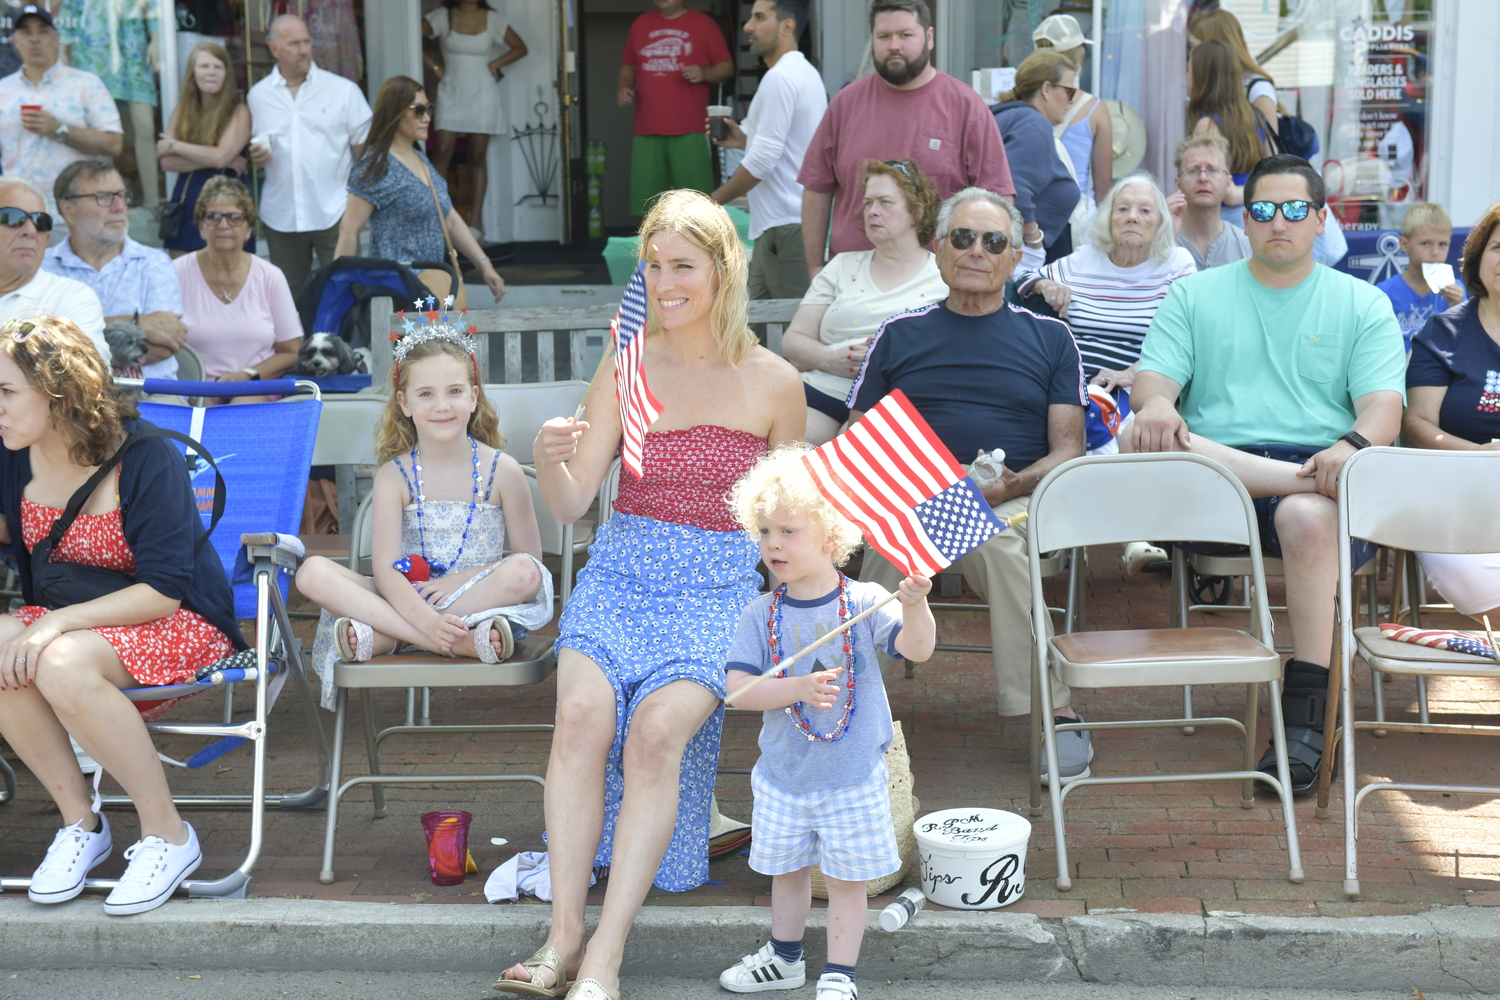
M 104 465 L 124 441 L 124 421 L 141 414 L 114 384 L 93 342 L 70 319 L 33 316 L 0 325 L 0 352 L 48 397 L 52 426 L 75 465 Z

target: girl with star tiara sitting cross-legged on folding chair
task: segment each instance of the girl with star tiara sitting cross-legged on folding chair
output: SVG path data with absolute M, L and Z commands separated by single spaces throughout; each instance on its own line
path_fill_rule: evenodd
M 500 663 L 552 618 L 525 474 L 501 451 L 472 337 L 441 319 L 412 324 L 393 348 L 375 432 L 375 577 L 316 556 L 297 571 L 297 589 L 324 609 L 320 667 L 334 649 L 364 661 L 402 645 Z M 324 672 L 326 688 L 330 678 Z

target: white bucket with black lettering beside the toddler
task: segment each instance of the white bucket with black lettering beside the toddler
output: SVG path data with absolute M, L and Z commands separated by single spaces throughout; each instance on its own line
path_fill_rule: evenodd
M 922 892 L 940 906 L 993 910 L 1026 891 L 1030 822 L 1004 810 L 944 810 L 914 825 Z

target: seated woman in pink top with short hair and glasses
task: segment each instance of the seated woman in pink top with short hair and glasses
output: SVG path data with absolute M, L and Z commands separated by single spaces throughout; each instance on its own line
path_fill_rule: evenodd
M 244 252 L 255 229 L 250 192 L 232 177 L 202 186 L 194 222 L 207 246 L 172 261 L 183 295 L 188 343 L 214 382 L 280 378 L 297 363 L 302 321 L 274 264 Z M 266 402 L 242 396 L 236 402 Z

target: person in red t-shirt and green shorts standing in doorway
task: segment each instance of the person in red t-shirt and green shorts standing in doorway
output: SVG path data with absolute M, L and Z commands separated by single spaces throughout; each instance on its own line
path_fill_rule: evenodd
M 630 211 L 638 216 L 663 190 L 714 189 L 714 162 L 704 133 L 708 84 L 729 79 L 735 64 L 714 19 L 688 10 L 686 1 L 652 0 L 657 9 L 630 25 L 620 60 L 618 103 L 636 105 Z

